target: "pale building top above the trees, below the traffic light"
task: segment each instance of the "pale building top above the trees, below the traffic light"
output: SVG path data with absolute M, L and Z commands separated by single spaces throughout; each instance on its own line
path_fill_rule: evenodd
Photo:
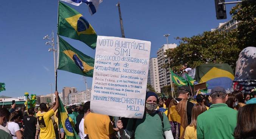
M 236 29 L 237 26 L 239 24 L 239 21 L 237 20 L 234 20 L 234 19 L 231 19 L 225 23 L 219 23 L 219 26 L 217 26 L 216 28 L 214 29 L 211 29 L 211 32 L 213 31 L 226 31 L 226 32 L 229 32 L 233 29 Z

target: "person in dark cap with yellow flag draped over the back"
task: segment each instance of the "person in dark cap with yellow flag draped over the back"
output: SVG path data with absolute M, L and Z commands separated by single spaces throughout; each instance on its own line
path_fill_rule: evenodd
M 174 138 L 184 138 L 185 129 L 191 123 L 194 104 L 188 101 L 191 89 L 188 86 L 178 88 L 178 98 L 171 100 L 168 107 L 168 119 L 171 123 Z

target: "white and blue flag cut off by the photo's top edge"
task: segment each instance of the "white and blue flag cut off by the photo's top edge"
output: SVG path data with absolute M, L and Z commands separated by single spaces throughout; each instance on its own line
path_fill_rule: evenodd
M 89 12 L 93 15 L 97 11 L 97 8 L 99 6 L 99 3 L 101 3 L 103 0 L 61 0 L 67 3 L 70 3 L 71 5 L 79 6 L 82 2 L 86 3 L 89 8 Z

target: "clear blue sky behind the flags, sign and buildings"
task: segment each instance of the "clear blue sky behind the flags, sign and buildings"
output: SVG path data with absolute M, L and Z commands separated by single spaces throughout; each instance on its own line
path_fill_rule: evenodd
M 104 0 L 98 12 L 90 15 L 87 6 L 71 6 L 92 24 L 98 35 L 121 37 L 118 0 Z M 4 0 L 0 5 L 0 82 L 5 82 L 5 96 L 23 96 L 24 92 L 44 95 L 54 84 L 53 52 L 43 37 L 57 32 L 57 0 Z M 217 20 L 214 0 L 120 0 L 126 38 L 151 41 L 150 57 L 156 57 L 160 46 L 166 43 L 163 34 L 174 37 L 191 37 L 209 31 L 230 19 Z M 231 6 L 227 5 L 227 11 Z M 95 50 L 86 44 L 63 37 L 76 49 L 90 57 Z M 88 87 L 92 78 L 87 78 Z M 85 90 L 81 75 L 58 70 L 58 90 L 63 87 Z M 54 88 L 54 87 L 53 87 Z M 54 89 L 53 89 L 54 90 Z

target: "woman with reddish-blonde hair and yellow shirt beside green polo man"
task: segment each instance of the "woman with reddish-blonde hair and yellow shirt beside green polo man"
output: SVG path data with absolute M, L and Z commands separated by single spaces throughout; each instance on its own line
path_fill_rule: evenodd
M 197 139 L 197 116 L 206 111 L 203 104 L 195 104 L 192 108 L 191 124 L 186 127 L 184 139 Z

